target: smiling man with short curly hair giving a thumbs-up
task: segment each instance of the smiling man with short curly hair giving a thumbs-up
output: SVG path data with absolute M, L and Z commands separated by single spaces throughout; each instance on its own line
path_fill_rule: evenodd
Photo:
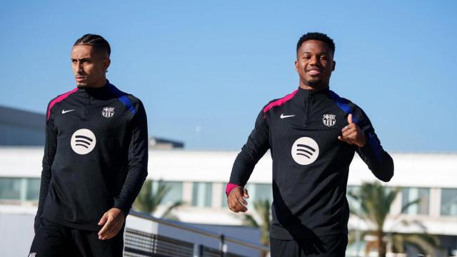
M 381 181 L 393 176 L 392 158 L 368 116 L 328 89 L 334 52 L 326 34 L 301 36 L 295 61 L 298 89 L 263 107 L 233 163 L 227 202 L 232 211 L 245 212 L 249 195 L 243 186 L 258 160 L 271 151 L 271 256 L 345 255 L 346 186 L 355 152 Z

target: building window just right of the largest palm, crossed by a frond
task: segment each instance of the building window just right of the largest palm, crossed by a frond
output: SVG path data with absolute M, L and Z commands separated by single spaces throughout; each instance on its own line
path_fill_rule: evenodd
M 401 213 L 410 215 L 428 215 L 430 206 L 430 188 L 402 188 L 401 189 L 401 208 L 412 201 L 420 200 L 419 203 L 409 206 Z

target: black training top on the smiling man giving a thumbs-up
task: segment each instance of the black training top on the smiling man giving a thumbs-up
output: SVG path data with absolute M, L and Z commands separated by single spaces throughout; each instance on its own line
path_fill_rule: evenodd
M 348 114 L 366 136 L 362 148 L 338 140 Z M 393 176 L 392 158 L 366 114 L 328 89 L 298 88 L 263 108 L 233 163 L 226 193 L 246 185 L 268 149 L 273 158 L 272 238 L 347 233 L 346 185 L 355 152 L 381 181 Z

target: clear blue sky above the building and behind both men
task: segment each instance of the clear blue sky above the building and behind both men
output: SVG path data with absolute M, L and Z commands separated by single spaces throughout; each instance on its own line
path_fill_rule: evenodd
M 298 38 L 336 43 L 331 89 L 389 151 L 457 151 L 456 1 L 7 1 L 0 104 L 44 113 L 74 88 L 86 33 L 111 44 L 108 79 L 138 96 L 149 134 L 239 149 L 271 99 L 298 86 Z

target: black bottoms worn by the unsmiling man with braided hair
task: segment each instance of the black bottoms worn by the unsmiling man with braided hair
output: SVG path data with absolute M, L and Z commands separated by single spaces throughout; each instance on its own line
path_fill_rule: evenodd
M 100 240 L 98 233 L 69 228 L 41 218 L 41 225 L 31 243 L 29 256 L 121 257 L 124 248 L 124 226 L 114 238 L 108 240 Z

